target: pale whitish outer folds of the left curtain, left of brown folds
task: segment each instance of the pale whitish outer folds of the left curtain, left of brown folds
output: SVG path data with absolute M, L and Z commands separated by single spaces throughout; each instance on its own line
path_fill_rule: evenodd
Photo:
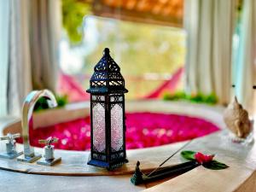
M 11 0 L 9 9 L 9 114 L 19 115 L 26 94 L 32 90 L 29 49 L 29 0 Z

